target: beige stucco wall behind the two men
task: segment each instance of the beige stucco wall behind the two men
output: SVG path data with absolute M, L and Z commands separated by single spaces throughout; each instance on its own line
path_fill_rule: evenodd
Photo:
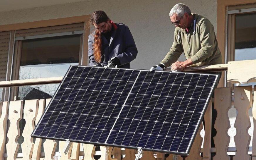
M 0 25 L 88 15 L 103 10 L 115 23 L 126 24 L 132 32 L 139 53 L 131 67 L 149 69 L 164 58 L 173 43 L 175 26 L 171 24 L 169 12 L 172 6 L 180 2 L 187 4 L 192 13 L 207 17 L 216 32 L 217 0 L 81 1 L 0 12 Z

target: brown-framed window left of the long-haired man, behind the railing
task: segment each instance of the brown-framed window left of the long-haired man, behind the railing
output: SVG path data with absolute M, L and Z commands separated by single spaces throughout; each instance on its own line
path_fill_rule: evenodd
M 86 65 L 88 32 L 84 25 L 73 23 L 13 32 L 15 45 L 8 63 L 12 66 L 11 80 L 60 77 L 70 65 Z M 11 87 L 9 100 L 52 98 L 58 85 Z

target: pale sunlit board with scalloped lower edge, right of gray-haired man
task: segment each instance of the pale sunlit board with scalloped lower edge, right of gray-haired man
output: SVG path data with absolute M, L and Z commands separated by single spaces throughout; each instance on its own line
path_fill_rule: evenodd
M 228 62 L 227 82 L 247 84 L 256 82 L 256 60 Z

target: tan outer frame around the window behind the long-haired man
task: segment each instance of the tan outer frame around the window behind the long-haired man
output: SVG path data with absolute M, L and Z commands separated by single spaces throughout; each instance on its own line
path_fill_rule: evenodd
M 50 20 L 41 20 L 35 22 L 27 22 L 27 23 L 16 23 L 16 24 L 8 24 L 8 25 L 0 25 L 0 32 L 10 31 L 10 45 L 8 51 L 8 62 L 6 68 L 6 81 L 16 80 L 18 74 L 19 61 L 20 60 L 20 52 L 18 52 L 21 48 L 21 40 L 15 40 L 15 32 L 16 30 L 23 29 L 33 29 L 39 27 L 50 27 L 57 25 L 68 25 L 73 23 L 84 23 L 83 33 L 81 34 L 80 41 L 80 54 L 79 54 L 79 64 L 87 65 L 88 59 L 88 36 L 90 28 L 87 24 L 89 22 L 90 15 L 84 16 L 74 16 L 67 18 L 58 18 L 58 19 L 50 19 Z M 15 49 L 14 49 L 15 46 Z M 16 48 L 17 47 L 17 48 Z M 19 48 L 18 48 L 19 47 Z M 15 65 L 13 65 L 15 64 Z M 12 91 L 11 91 L 12 88 Z M 16 88 L 16 89 L 15 89 Z M 5 87 L 3 88 L 3 96 L 2 101 L 11 101 L 15 100 L 14 95 L 17 93 L 18 87 Z

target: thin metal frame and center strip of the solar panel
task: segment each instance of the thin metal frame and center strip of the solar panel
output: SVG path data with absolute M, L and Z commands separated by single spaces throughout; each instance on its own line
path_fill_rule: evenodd
M 60 83 L 58 89 L 55 91 L 55 94 L 54 94 L 53 98 L 50 100 L 50 103 L 48 104 L 48 106 L 51 105 L 53 99 L 55 98 L 56 93 L 57 93 L 58 90 L 60 89 L 60 86 L 63 84 L 63 82 L 64 82 L 64 80 L 65 80 L 65 78 L 66 78 L 66 75 L 69 73 L 70 69 L 71 69 L 73 66 L 78 66 L 78 67 L 80 67 L 79 65 L 71 65 L 71 66 L 70 66 L 70 68 L 68 69 L 67 73 L 65 74 L 63 80 L 61 81 L 61 83 Z M 102 67 L 97 67 L 97 66 L 83 66 L 83 67 L 102 68 Z M 114 69 L 114 68 L 113 68 L 113 69 Z M 127 68 L 115 68 L 115 69 L 149 71 L 149 70 L 127 69 Z M 155 72 L 168 72 L 168 73 L 170 73 L 169 71 L 155 71 Z M 186 73 L 186 74 L 198 74 L 198 73 Z M 213 90 L 214 90 L 214 88 L 216 87 L 217 82 L 218 82 L 218 80 L 219 80 L 219 75 L 215 75 L 215 74 L 205 74 L 205 73 L 201 73 L 200 75 L 214 75 L 214 76 L 216 76 L 216 78 L 215 78 L 215 81 L 214 81 L 214 83 L 213 83 L 214 86 L 213 86 L 213 87 L 211 88 L 211 90 L 210 90 L 210 94 L 208 95 L 208 98 L 207 98 L 207 100 L 206 100 L 206 104 L 205 104 L 205 106 L 203 107 L 203 111 L 201 112 L 201 116 L 200 116 L 200 118 L 199 118 L 199 120 L 198 120 L 198 122 L 197 122 L 196 129 L 195 129 L 194 132 L 193 132 L 193 135 L 192 135 L 191 140 L 190 140 L 190 142 L 189 142 L 189 144 L 188 144 L 188 147 L 187 147 L 186 152 L 173 152 L 173 151 L 166 151 L 166 150 L 142 148 L 143 150 L 145 150 L 145 151 L 154 151 L 154 152 L 170 153 L 170 154 L 176 154 L 176 155 L 181 155 L 181 156 L 188 156 L 189 151 L 190 151 L 190 149 L 191 149 L 191 147 L 192 147 L 193 141 L 194 141 L 194 139 L 195 139 L 195 137 L 196 137 L 196 133 L 198 132 L 199 125 L 200 125 L 201 122 L 202 122 L 202 119 L 203 119 L 203 116 L 204 116 L 204 114 L 205 114 L 205 112 L 206 112 L 207 106 L 208 106 L 208 104 L 209 104 L 209 102 L 210 102 L 210 99 L 211 99 L 211 97 L 212 97 L 212 95 L 213 95 Z M 138 76 L 139 76 L 139 74 L 137 75 L 137 77 L 138 77 Z M 135 84 L 135 82 L 136 82 L 136 81 L 134 81 L 134 84 Z M 131 90 L 132 90 L 132 89 L 131 89 Z M 131 92 L 131 90 L 130 90 L 130 92 Z M 129 94 L 128 94 L 128 96 L 127 96 L 127 99 L 128 99 L 128 97 L 129 97 Z M 125 102 L 126 102 L 126 101 L 125 101 Z M 124 102 L 124 104 L 125 104 L 125 102 Z M 122 109 L 123 109 L 123 107 L 124 107 L 124 104 L 122 105 Z M 49 107 L 47 107 L 46 111 L 43 113 L 43 116 L 46 114 L 46 112 L 48 111 L 48 109 L 49 109 Z M 120 110 L 119 114 L 122 112 L 122 109 Z M 41 122 L 43 116 L 40 118 L 39 123 Z M 118 118 L 119 118 L 119 115 L 118 115 L 118 117 L 116 118 L 116 121 L 117 121 Z M 66 141 L 66 140 L 63 139 L 63 138 L 52 138 L 52 137 L 45 137 L 45 136 L 37 136 L 37 135 L 34 135 L 36 129 L 38 128 L 39 123 L 36 125 L 36 127 L 35 127 L 33 133 L 31 134 L 31 137 L 34 137 L 34 138 L 44 138 L 44 139 L 51 139 L 51 140 Z M 114 124 L 115 124 L 115 123 L 114 123 Z M 112 129 L 113 129 L 113 127 L 114 127 L 114 125 L 112 126 Z M 112 131 L 112 130 L 111 130 L 111 131 Z M 110 134 L 111 134 L 111 132 L 109 133 L 109 135 L 110 135 Z M 70 142 L 78 142 L 78 143 L 96 144 L 96 145 L 102 145 L 102 146 L 111 146 L 111 147 L 122 147 L 122 148 L 129 148 L 129 149 L 137 149 L 137 147 L 131 147 L 131 146 L 114 145 L 114 144 L 98 143 L 98 142 L 87 142 L 87 141 L 85 142 L 85 141 L 82 141 L 82 140 L 72 140 L 72 139 L 70 139 Z M 106 142 L 107 142 L 107 140 L 106 140 Z

